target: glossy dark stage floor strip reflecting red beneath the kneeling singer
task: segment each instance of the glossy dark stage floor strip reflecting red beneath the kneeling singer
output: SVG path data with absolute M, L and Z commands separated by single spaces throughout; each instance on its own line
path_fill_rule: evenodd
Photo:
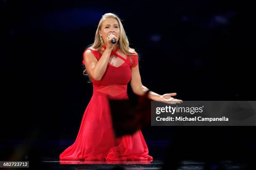
M 44 168 L 52 170 L 160 170 L 164 162 L 161 160 L 148 161 L 59 161 L 57 159 L 45 158 L 42 161 Z M 171 163 L 171 161 L 169 162 Z M 218 170 L 243 170 L 245 165 L 232 161 L 221 161 L 222 169 Z M 176 170 L 217 170 L 218 165 L 210 165 L 205 168 L 204 162 L 186 160 L 179 163 Z M 167 168 L 166 168 L 167 169 Z M 169 168 L 168 168 L 169 169 Z M 169 169 L 171 170 L 171 169 Z

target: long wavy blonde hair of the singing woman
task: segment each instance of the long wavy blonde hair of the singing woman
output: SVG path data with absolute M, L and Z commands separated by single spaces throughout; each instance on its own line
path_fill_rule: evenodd
M 113 13 L 106 13 L 106 14 L 102 15 L 102 18 L 100 19 L 100 22 L 98 24 L 98 28 L 97 28 L 96 33 L 95 33 L 94 43 L 89 45 L 87 47 L 87 49 L 90 48 L 92 50 L 100 50 L 102 48 L 103 42 L 101 42 L 99 31 L 101 30 L 102 23 L 104 22 L 104 20 L 106 18 L 114 18 L 118 21 L 118 25 L 119 25 L 119 28 L 120 28 L 120 38 L 118 40 L 118 47 L 123 51 L 123 53 L 125 53 L 128 56 L 138 55 L 137 52 L 133 48 L 129 47 L 128 37 L 125 34 L 123 24 L 121 23 L 120 18 L 117 15 L 113 14 Z M 84 69 L 83 74 L 88 75 L 88 77 L 90 78 L 90 81 L 91 81 L 91 77 L 87 73 L 86 69 Z

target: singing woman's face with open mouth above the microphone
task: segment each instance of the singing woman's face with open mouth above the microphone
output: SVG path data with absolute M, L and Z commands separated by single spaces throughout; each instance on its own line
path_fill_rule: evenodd
M 110 34 L 114 34 L 119 40 L 120 27 L 118 25 L 118 21 L 115 18 L 106 18 L 102 23 L 102 27 L 99 33 L 100 33 L 100 36 L 103 38 L 104 43 L 108 42 L 107 37 Z

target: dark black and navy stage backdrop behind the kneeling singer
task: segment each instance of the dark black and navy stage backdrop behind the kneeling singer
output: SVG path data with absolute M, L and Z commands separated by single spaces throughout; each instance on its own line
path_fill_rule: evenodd
M 255 100 L 255 12 L 246 1 L 0 4 L 2 160 L 24 160 L 35 148 L 38 155 L 58 158 L 74 142 L 92 96 L 92 84 L 82 75 L 82 54 L 105 13 L 122 20 L 130 46 L 140 56 L 143 85 L 150 90 L 177 92 L 176 98 L 184 101 Z M 255 130 L 149 126 L 142 132 L 155 158 L 162 154 L 154 148 L 182 138 L 183 148 L 192 142 L 200 146 L 184 152 L 190 159 L 206 148 L 219 148 L 218 154 L 230 159 L 238 158 L 237 151 L 256 151 Z

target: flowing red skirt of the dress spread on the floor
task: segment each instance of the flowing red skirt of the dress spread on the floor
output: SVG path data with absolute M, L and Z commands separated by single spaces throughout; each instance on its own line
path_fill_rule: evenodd
M 148 155 L 141 130 L 133 135 L 115 138 L 108 98 L 96 92 L 84 112 L 75 142 L 59 155 L 59 159 L 153 160 Z

